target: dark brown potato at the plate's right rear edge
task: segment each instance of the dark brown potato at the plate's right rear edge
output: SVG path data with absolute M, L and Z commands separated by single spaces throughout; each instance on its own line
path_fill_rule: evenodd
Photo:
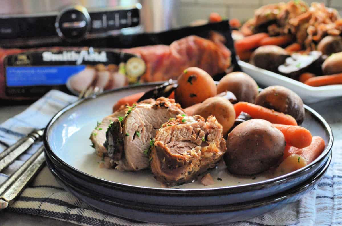
M 300 125 L 304 120 L 305 110 L 302 99 L 292 90 L 283 86 L 269 86 L 257 96 L 255 103 L 294 117 Z

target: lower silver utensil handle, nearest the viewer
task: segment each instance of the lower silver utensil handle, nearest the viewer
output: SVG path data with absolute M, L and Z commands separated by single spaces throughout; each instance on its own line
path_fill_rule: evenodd
M 36 175 L 45 163 L 44 146 L 33 154 L 15 173 L 0 187 L 0 210 L 8 207 L 25 188 L 28 182 Z

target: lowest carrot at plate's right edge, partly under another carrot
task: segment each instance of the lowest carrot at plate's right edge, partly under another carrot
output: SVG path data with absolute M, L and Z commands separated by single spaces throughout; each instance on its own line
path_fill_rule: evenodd
M 321 137 L 313 137 L 311 144 L 307 147 L 299 149 L 297 147 L 292 147 L 287 145 L 284 150 L 283 158 L 297 154 L 306 159 L 307 163 L 311 163 L 315 160 L 323 151 L 325 147 L 325 142 Z

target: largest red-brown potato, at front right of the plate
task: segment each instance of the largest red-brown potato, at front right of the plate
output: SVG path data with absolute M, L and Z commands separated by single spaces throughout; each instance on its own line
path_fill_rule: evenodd
M 234 174 L 252 175 L 276 165 L 284 154 L 284 135 L 264 119 L 250 119 L 228 134 L 224 161 Z

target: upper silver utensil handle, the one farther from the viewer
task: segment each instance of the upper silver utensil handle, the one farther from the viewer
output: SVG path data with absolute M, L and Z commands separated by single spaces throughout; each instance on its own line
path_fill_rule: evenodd
M 8 167 L 19 155 L 25 152 L 36 140 L 43 136 L 43 130 L 35 130 L 20 139 L 0 154 L 0 172 Z

